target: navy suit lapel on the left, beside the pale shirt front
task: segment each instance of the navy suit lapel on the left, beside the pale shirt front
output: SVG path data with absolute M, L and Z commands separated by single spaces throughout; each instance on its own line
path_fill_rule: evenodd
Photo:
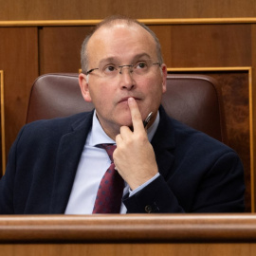
M 64 213 L 66 208 L 82 149 L 92 125 L 93 112 L 85 115 L 72 124 L 70 133 L 61 138 L 51 197 L 52 213 Z

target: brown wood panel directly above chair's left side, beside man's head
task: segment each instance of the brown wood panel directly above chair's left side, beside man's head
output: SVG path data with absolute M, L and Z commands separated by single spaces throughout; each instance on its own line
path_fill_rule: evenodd
M 82 41 L 92 27 L 44 27 L 40 30 L 40 74 L 81 68 Z

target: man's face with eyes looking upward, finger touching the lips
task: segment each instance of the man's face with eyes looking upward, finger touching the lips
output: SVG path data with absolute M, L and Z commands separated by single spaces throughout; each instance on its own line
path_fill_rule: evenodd
M 148 31 L 137 25 L 101 27 L 91 37 L 87 46 L 89 68 L 107 64 L 136 64 L 139 61 L 158 62 L 155 41 Z M 162 72 L 161 72 L 162 69 Z M 82 95 L 85 101 L 93 101 L 98 119 L 110 137 L 119 134 L 122 125 L 131 126 L 132 119 L 127 99 L 136 99 L 142 119 L 153 111 L 156 117 L 162 93 L 166 91 L 166 66 L 154 64 L 142 76 L 129 72 L 128 67 L 115 77 L 102 76 L 94 70 L 88 76 L 80 75 Z

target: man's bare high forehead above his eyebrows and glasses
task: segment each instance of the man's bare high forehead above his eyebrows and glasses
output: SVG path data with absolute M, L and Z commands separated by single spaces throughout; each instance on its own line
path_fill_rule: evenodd
M 102 59 L 132 61 L 139 55 L 156 58 L 156 47 L 153 36 L 137 24 L 101 27 L 87 45 L 89 64 L 99 63 Z

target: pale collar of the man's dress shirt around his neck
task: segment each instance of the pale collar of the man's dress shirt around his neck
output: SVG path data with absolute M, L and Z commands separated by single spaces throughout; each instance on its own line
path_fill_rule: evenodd
M 157 129 L 159 120 L 160 120 L 160 116 L 159 116 L 159 112 L 157 111 L 157 116 L 156 116 L 154 123 L 147 130 L 149 141 L 151 141 L 155 135 L 155 131 Z M 116 144 L 116 141 L 113 140 L 111 137 L 108 137 L 105 134 L 104 130 L 101 127 L 101 123 L 100 123 L 99 119 L 97 118 L 96 110 L 95 110 L 94 114 L 93 114 L 92 130 L 90 133 L 89 145 L 96 146 L 96 145 L 102 144 L 102 143 Z

